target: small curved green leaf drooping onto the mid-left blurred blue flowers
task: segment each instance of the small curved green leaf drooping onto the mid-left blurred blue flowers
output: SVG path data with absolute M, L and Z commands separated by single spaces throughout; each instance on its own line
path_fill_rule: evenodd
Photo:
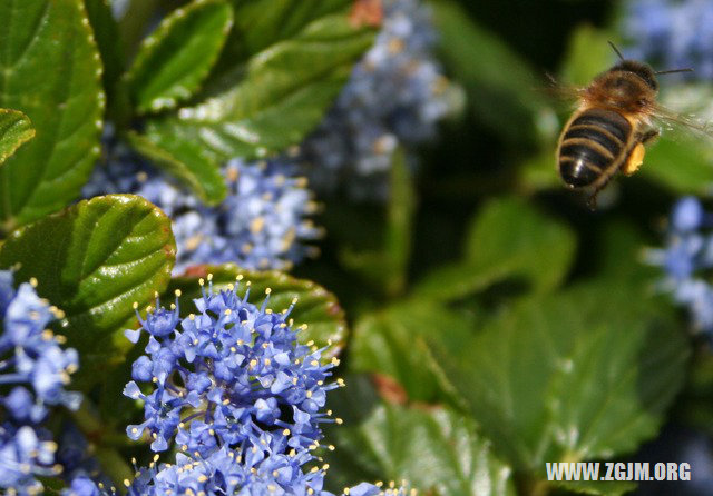
M 227 195 L 219 165 L 195 142 L 134 131 L 127 138 L 137 151 L 183 181 L 204 204 L 217 205 Z

